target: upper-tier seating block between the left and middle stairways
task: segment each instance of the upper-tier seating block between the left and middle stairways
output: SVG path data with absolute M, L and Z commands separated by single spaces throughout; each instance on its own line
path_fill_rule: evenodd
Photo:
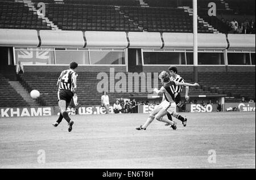
M 50 4 L 46 16 L 68 31 L 142 31 L 114 6 Z

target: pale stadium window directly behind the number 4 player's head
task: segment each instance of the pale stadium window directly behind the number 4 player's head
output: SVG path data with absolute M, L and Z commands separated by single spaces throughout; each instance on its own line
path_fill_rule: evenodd
M 79 65 L 89 65 L 88 51 L 55 50 L 56 65 L 69 65 L 71 61 Z

